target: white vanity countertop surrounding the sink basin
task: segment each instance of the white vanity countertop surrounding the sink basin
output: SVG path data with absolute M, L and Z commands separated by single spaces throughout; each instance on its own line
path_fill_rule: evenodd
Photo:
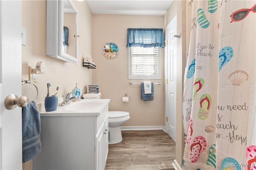
M 100 104 L 98 107 L 85 110 L 70 111 L 65 109 L 68 106 L 82 102 L 102 102 L 102 104 Z M 71 102 L 65 106 L 58 106 L 55 111 L 40 111 L 40 116 L 98 116 L 102 113 L 102 109 L 104 109 L 109 102 L 110 99 L 81 99 L 78 102 Z

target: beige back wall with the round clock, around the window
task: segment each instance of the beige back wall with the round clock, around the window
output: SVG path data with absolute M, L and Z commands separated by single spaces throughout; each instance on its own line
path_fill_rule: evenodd
M 110 98 L 110 111 L 128 111 L 130 119 L 123 126 L 164 126 L 164 48 L 161 50 L 161 80 L 154 84 L 154 100 L 145 102 L 140 98 L 140 84 L 129 82 L 145 80 L 128 79 L 127 28 L 164 28 L 163 16 L 102 15 L 93 14 L 93 55 L 96 69 L 92 82 L 99 84 L 102 98 Z M 102 54 L 105 43 L 115 43 L 119 54 L 106 59 Z M 122 102 L 125 94 L 129 102 Z

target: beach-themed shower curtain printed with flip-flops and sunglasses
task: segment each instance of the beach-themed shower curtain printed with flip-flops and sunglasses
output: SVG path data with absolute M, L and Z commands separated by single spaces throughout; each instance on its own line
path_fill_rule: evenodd
M 182 170 L 256 170 L 256 0 L 193 0 Z

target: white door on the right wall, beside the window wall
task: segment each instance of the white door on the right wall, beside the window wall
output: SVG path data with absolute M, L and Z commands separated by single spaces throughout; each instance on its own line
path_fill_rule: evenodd
M 177 17 L 166 27 L 165 74 L 166 74 L 166 131 L 176 141 L 176 73 L 177 73 Z

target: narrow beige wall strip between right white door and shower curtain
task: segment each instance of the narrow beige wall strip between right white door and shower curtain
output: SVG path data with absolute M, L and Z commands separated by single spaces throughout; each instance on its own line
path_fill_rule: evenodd
M 165 26 L 170 23 L 172 18 L 177 14 L 177 33 L 181 34 L 177 41 L 177 67 L 181 68 L 177 72 L 177 98 L 176 98 L 176 164 L 182 167 L 184 153 L 184 130 L 182 122 L 182 96 L 183 96 L 183 78 L 186 66 L 186 57 L 189 44 L 188 15 L 191 12 L 189 1 L 174 0 L 166 12 Z M 178 167 L 177 167 L 178 168 Z

